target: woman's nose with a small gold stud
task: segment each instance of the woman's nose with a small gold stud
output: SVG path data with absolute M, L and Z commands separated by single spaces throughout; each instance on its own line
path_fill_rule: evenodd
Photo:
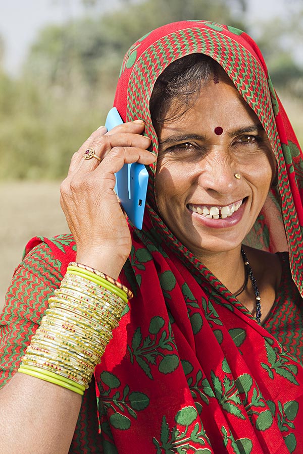
M 201 167 L 199 184 L 205 190 L 230 194 L 238 187 L 239 179 L 235 175 L 239 174 L 239 168 L 222 148 L 209 153 Z

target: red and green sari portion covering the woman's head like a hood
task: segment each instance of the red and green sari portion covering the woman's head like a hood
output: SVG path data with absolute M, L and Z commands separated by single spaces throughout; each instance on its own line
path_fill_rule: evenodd
M 300 278 L 303 257 L 301 150 L 254 40 L 234 27 L 206 21 L 177 22 L 154 30 L 134 43 L 125 55 L 114 105 L 124 121 L 144 120 L 145 134 L 153 140 L 152 150 L 158 155 L 158 138 L 149 112 L 151 92 L 158 76 L 170 63 L 194 52 L 211 56 L 223 67 L 268 135 L 277 161 L 279 192 L 272 189 L 266 209 L 258 217 L 246 243 L 271 252 L 287 250 L 288 243 L 292 275 L 303 294 Z M 156 168 L 157 163 L 150 166 L 147 204 L 153 219 L 156 218 Z M 161 234 L 167 235 L 176 246 L 175 251 L 188 254 L 160 220 L 155 222 L 161 227 Z

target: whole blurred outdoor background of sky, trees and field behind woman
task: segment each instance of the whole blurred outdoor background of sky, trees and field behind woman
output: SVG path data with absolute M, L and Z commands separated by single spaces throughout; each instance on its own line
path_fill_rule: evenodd
M 59 184 L 105 122 L 125 51 L 185 19 L 257 41 L 303 144 L 302 0 L 0 0 L 0 308 L 28 239 L 68 232 Z

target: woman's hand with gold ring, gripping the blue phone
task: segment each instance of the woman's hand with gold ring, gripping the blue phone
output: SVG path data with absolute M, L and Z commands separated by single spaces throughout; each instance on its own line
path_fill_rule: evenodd
M 117 278 L 129 256 L 131 237 L 125 214 L 114 192 L 115 173 L 125 163 L 151 164 L 141 120 L 94 131 L 73 155 L 61 185 L 61 206 L 77 244 L 77 261 Z M 101 159 L 84 159 L 93 148 Z

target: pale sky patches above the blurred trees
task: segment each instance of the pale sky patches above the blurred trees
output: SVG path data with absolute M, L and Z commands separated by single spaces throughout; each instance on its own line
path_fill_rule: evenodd
M 109 9 L 114 4 L 115 0 L 104 0 L 102 8 Z M 283 14 L 283 0 L 250 0 L 249 5 L 248 18 L 254 22 L 271 17 L 273 12 Z M 18 73 L 30 44 L 43 26 L 63 23 L 83 14 L 85 8 L 81 0 L 0 0 L 5 70 L 11 75 Z

